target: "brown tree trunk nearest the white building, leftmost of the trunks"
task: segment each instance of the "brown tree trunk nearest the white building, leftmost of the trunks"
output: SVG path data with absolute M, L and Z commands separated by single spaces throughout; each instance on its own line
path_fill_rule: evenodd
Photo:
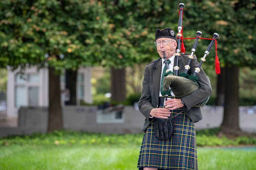
M 48 132 L 63 129 L 62 108 L 60 103 L 60 75 L 49 66 L 49 113 Z

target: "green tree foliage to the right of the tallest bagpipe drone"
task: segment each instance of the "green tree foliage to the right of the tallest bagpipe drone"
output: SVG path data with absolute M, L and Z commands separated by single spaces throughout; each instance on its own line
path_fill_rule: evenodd
M 219 34 L 217 52 L 222 67 L 236 64 L 254 68 L 256 66 L 254 55 L 256 33 L 253 31 L 255 28 L 255 3 L 255 0 L 187 1 L 184 8 L 184 35 L 185 37 L 195 36 L 196 31 L 199 30 L 202 31 L 202 37 L 211 38 L 216 32 Z M 203 48 L 200 47 L 201 43 L 204 45 Z M 199 40 L 196 54 L 201 57 L 208 44 L 209 41 Z M 187 49 L 190 50 L 190 48 Z M 209 62 L 206 63 L 213 64 L 214 55 L 215 51 L 212 47 L 212 51 L 207 57 Z

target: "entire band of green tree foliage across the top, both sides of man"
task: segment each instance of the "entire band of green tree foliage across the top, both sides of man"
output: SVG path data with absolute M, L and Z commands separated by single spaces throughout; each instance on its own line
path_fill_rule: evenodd
M 199 30 L 211 38 L 216 32 L 221 64 L 255 66 L 255 0 L 183 3 L 184 37 Z M 2 1 L 0 66 L 47 61 L 57 69 L 95 63 L 121 68 L 150 61 L 158 57 L 155 29 L 177 30 L 178 5 L 167 0 Z M 184 40 L 187 52 L 193 42 Z M 196 54 L 203 55 L 208 44 L 199 40 Z M 207 63 L 214 60 L 213 50 Z

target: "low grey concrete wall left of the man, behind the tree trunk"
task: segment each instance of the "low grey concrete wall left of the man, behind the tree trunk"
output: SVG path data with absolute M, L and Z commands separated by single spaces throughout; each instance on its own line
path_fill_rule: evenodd
M 132 106 L 125 106 L 123 110 L 124 123 L 96 123 L 97 107 L 65 106 L 63 107 L 64 128 L 99 133 L 140 133 L 144 116 Z M 21 107 L 19 110 L 18 126 L 46 131 L 46 107 L 37 109 Z

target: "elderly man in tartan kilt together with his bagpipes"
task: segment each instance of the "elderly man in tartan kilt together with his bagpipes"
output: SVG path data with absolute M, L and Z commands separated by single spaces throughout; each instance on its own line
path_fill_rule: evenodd
M 142 128 L 145 133 L 137 164 L 143 170 L 197 170 L 195 122 L 202 119 L 200 106 L 212 93 L 201 65 L 219 35 L 214 33 L 211 39 L 202 38 L 211 43 L 200 63 L 193 55 L 200 31 L 194 38 L 191 54 L 179 53 L 184 4 L 179 6 L 178 39 L 171 28 L 157 29 L 155 45 L 160 58 L 147 64 L 144 70 L 138 107 L 146 117 Z M 217 74 L 217 51 L 215 59 Z

